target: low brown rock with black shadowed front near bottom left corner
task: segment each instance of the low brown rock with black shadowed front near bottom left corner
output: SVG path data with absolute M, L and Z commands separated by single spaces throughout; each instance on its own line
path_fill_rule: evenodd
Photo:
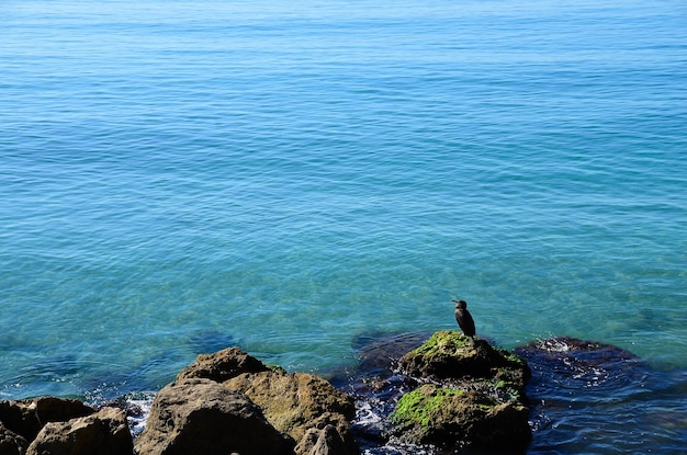
M 115 408 L 66 422 L 49 422 L 29 445 L 26 455 L 131 455 L 126 416 Z

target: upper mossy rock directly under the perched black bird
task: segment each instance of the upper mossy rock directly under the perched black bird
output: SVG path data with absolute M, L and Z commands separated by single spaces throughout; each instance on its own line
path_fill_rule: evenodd
M 530 377 L 527 362 L 506 350 L 477 340 L 473 346 L 468 337 L 454 330 L 436 332 L 419 348 L 399 361 L 406 374 L 419 378 L 489 378 L 523 388 Z

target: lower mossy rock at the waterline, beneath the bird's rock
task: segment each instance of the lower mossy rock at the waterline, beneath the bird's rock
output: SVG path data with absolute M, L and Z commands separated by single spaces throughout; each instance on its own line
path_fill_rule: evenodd
M 398 400 L 392 435 L 408 444 L 523 448 L 531 439 L 528 416 L 517 400 L 425 384 Z

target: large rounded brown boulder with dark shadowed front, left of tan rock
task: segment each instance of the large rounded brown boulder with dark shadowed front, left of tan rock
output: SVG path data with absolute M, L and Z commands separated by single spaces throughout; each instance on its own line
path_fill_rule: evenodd
M 156 395 L 135 450 L 139 455 L 286 455 L 293 445 L 245 394 L 191 378 Z

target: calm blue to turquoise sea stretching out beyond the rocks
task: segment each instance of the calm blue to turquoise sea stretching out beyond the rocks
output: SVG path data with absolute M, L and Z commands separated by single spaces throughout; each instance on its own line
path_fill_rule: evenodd
M 2 2 L 0 398 L 326 372 L 459 297 L 687 369 L 687 3 L 292 3 Z

